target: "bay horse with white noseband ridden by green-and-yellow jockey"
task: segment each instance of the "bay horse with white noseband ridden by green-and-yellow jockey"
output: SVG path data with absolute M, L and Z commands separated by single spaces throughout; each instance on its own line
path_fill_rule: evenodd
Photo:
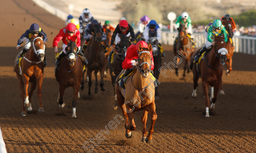
M 226 42 L 222 36 L 214 36 L 214 45 L 212 50 L 204 55 L 204 60 L 202 59 L 197 65 L 193 61 L 194 58 L 190 60 L 190 69 L 193 71 L 193 81 L 194 81 L 194 90 L 192 97 L 196 97 L 196 88 L 198 86 L 197 82 L 199 77 L 202 78 L 202 86 L 204 91 L 205 98 L 205 107 L 206 115 L 209 116 L 209 105 L 212 102 L 211 109 L 215 107 L 215 102 L 217 100 L 217 95 L 219 88 L 222 84 L 222 73 L 223 66 L 222 63 L 226 62 L 227 59 L 227 49 Z M 194 57 L 195 55 L 193 55 Z M 201 75 L 201 76 L 200 76 Z M 213 98 L 208 97 L 208 86 L 214 87 Z M 213 90 L 213 88 L 211 88 Z

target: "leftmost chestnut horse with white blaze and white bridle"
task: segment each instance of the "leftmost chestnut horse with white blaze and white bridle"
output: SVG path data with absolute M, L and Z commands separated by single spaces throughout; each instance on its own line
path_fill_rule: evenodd
M 28 111 L 32 111 L 31 107 L 31 98 L 33 91 L 37 87 L 37 96 L 39 98 L 39 111 L 44 111 L 42 104 L 42 83 L 44 75 L 44 51 L 45 46 L 42 37 L 36 37 L 31 44 L 30 49 L 21 59 L 20 67 L 14 64 L 14 71 L 16 72 L 19 87 L 21 91 L 21 100 L 22 100 L 22 116 L 26 116 L 26 108 Z M 18 57 L 18 56 L 17 56 Z M 29 82 L 30 90 L 28 92 Z

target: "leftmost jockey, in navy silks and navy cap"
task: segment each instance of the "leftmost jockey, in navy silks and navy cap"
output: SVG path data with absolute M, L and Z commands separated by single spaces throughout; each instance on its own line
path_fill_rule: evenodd
M 24 53 L 26 53 L 30 46 L 31 46 L 31 41 L 36 38 L 37 36 L 43 36 L 43 41 L 44 43 L 48 41 L 46 34 L 43 32 L 43 30 L 39 27 L 39 25 L 33 23 L 30 28 L 23 34 L 21 35 L 20 39 L 18 40 L 17 47 L 16 49 L 20 49 L 20 45 L 26 40 L 26 45 L 25 48 L 20 52 L 20 55 L 17 60 L 17 64 L 19 63 L 19 58 L 21 58 Z M 47 65 L 46 63 L 46 57 L 44 56 L 44 67 Z

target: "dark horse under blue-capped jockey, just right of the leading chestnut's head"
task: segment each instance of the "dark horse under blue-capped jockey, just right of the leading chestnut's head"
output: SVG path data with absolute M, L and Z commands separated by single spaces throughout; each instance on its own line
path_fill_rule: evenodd
M 154 58 L 154 76 L 158 80 L 160 71 L 158 71 L 159 68 L 162 66 L 162 55 L 160 52 L 160 47 L 158 46 L 158 40 L 156 37 L 151 37 L 149 38 L 149 43 L 152 45 L 152 54 Z M 155 87 L 155 99 L 159 99 L 158 97 L 158 91 L 157 91 L 157 86 Z

